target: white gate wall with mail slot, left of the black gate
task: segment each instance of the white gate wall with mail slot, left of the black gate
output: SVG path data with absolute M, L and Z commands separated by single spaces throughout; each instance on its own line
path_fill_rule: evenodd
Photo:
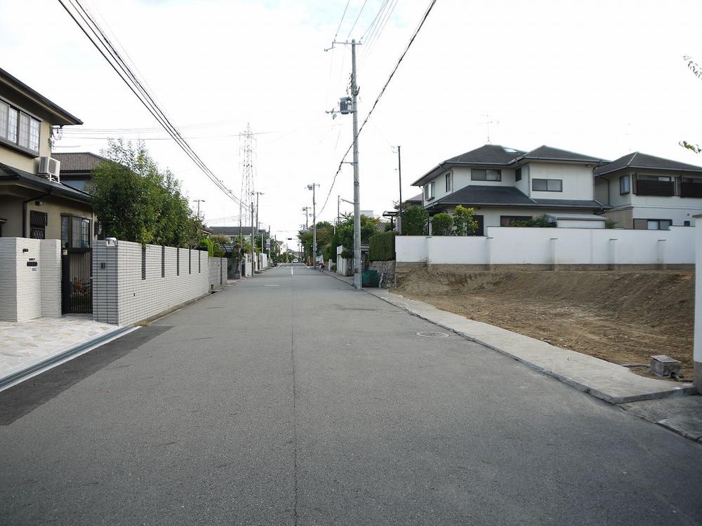
M 41 316 L 61 316 L 60 241 L 0 238 L 0 321 Z

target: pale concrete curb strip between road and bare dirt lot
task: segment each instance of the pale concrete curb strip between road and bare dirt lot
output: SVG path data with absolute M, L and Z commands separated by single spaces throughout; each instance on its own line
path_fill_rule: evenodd
M 348 283 L 343 278 L 334 276 L 333 274 L 329 274 L 329 275 L 333 278 L 338 279 L 339 281 L 343 281 L 344 283 L 347 283 L 347 285 L 350 285 L 350 283 Z M 578 380 L 578 379 L 574 379 L 573 377 L 570 377 L 568 375 L 564 375 L 560 372 L 557 372 L 555 370 L 550 369 L 550 367 L 548 367 L 548 365 L 540 365 L 539 363 L 536 363 L 535 361 L 529 360 L 527 358 L 524 358 L 524 356 L 520 356 L 517 353 L 514 353 L 508 349 L 505 349 L 505 347 L 503 347 L 503 346 L 498 346 L 492 342 L 489 342 L 488 340 L 483 339 L 479 335 L 468 334 L 467 332 L 460 330 L 453 325 L 442 323 L 441 321 L 437 321 L 437 319 L 435 319 L 435 318 L 431 318 L 429 316 L 426 316 L 423 313 L 420 313 L 416 310 L 411 309 L 409 306 L 406 306 L 404 304 L 400 304 L 399 302 L 393 301 L 389 297 L 385 297 L 385 295 L 392 294 L 392 292 L 388 292 L 385 290 L 383 290 L 381 292 L 381 290 L 378 290 L 378 289 L 373 289 L 373 290 L 362 289 L 362 290 L 363 290 L 363 292 L 366 292 L 372 296 L 375 296 L 378 299 L 380 299 L 380 300 L 382 300 L 382 301 L 384 301 L 392 306 L 396 306 L 398 309 L 402 309 L 402 310 L 406 311 L 407 313 L 411 314 L 412 316 L 416 316 L 418 318 L 421 318 L 421 319 L 428 321 L 430 323 L 433 323 L 434 325 L 437 325 L 441 328 L 444 328 L 446 330 L 450 330 L 451 332 L 454 332 L 456 335 L 459 335 L 465 339 L 468 339 L 471 342 L 479 343 L 481 345 L 488 347 L 489 349 L 493 349 L 494 351 L 497 351 L 498 353 L 502 353 L 505 356 L 509 356 L 510 358 L 513 358 L 521 363 L 524 363 L 524 365 L 527 365 L 528 367 L 531 367 L 532 369 L 534 369 L 538 372 L 541 372 L 544 375 L 548 375 L 552 378 L 555 378 L 555 379 L 559 380 L 560 382 L 563 382 L 564 384 L 567 384 L 571 387 L 574 387 L 575 389 L 578 389 L 578 391 L 582 391 L 583 393 L 588 393 L 588 394 L 594 396 L 595 398 L 599 398 L 600 400 L 604 400 L 607 403 L 618 405 L 618 404 L 623 404 L 623 403 L 636 402 L 639 400 L 656 400 L 656 399 L 661 399 L 661 398 L 672 398 L 672 397 L 677 397 L 677 396 L 688 396 L 688 395 L 697 394 L 696 389 L 691 384 L 672 384 L 671 382 L 665 382 L 663 380 L 651 380 L 651 379 L 645 379 L 645 378 L 641 378 L 641 382 L 638 382 L 638 377 L 635 377 L 635 376 L 626 377 L 626 378 L 633 380 L 634 382 L 637 382 L 640 384 L 643 384 L 644 382 L 646 382 L 646 383 L 660 382 L 660 384 L 658 386 L 656 386 L 656 389 L 647 389 L 647 388 L 642 387 L 640 389 L 637 389 L 638 392 L 628 394 L 628 395 L 621 395 L 621 394 L 616 394 L 613 392 L 608 392 L 606 389 L 598 388 L 596 385 L 594 385 L 595 382 L 588 383 L 587 379 Z M 397 298 L 400 299 L 402 297 L 398 296 Z M 402 299 L 405 299 L 405 298 L 402 298 Z M 417 302 L 417 300 L 409 300 L 409 301 Z M 435 309 L 436 311 L 439 311 L 442 313 L 446 313 L 446 314 L 450 314 L 452 316 L 457 316 L 459 318 L 463 318 L 462 316 L 453 315 L 452 313 L 448 313 L 446 311 L 441 311 L 440 309 L 436 309 L 434 306 L 431 306 L 429 304 L 425 304 L 423 302 L 417 302 L 417 303 L 426 305 L 426 306 L 430 307 L 431 309 Z M 465 320 L 468 321 L 468 318 L 465 318 Z M 500 332 L 503 332 L 503 333 L 515 335 L 515 337 L 519 337 L 519 339 L 532 340 L 533 342 L 538 342 L 539 344 L 543 344 L 543 342 L 541 342 L 540 340 L 529 338 L 529 337 L 526 337 L 524 335 L 519 335 L 515 332 L 511 332 L 511 331 L 501 329 L 501 328 L 496 328 L 496 327 L 494 327 L 492 325 L 488 325 L 488 324 L 482 324 L 482 325 L 486 325 L 488 327 L 494 328 L 494 329 L 499 330 Z M 583 355 L 582 353 L 577 353 L 576 351 L 569 351 L 567 349 L 560 349 L 560 348 L 555 347 L 555 346 L 550 346 L 550 347 L 555 349 L 555 350 L 558 350 L 558 351 L 563 351 L 566 353 L 574 353 L 573 356 L 581 356 L 583 358 L 587 358 L 590 360 L 597 360 L 598 362 L 602 363 L 603 366 L 606 365 L 607 367 L 616 367 L 616 368 L 620 367 L 618 365 L 611 364 L 609 362 L 605 362 L 604 360 L 599 360 L 598 358 L 593 358 L 593 357 L 590 357 L 587 355 Z M 594 374 L 595 374 L 595 372 L 593 371 L 593 375 Z M 629 374 L 633 375 L 634 373 L 627 371 L 627 375 L 629 375 Z M 670 384 L 670 385 L 668 386 L 668 384 Z M 657 389 L 658 387 L 661 387 L 663 389 Z M 614 391 L 616 391 L 616 388 L 614 389 Z

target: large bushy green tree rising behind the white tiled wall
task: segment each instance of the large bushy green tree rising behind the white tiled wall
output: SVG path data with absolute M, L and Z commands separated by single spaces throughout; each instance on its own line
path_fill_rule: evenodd
M 201 222 L 192 213 L 180 182 L 161 170 L 143 142 L 110 140 L 93 171 L 93 208 L 106 236 L 176 247 L 199 242 Z

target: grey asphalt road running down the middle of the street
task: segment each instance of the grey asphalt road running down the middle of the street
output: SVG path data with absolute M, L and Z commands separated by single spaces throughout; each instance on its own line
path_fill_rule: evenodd
M 226 288 L 0 393 L 0 524 L 702 523 L 700 445 L 437 330 Z

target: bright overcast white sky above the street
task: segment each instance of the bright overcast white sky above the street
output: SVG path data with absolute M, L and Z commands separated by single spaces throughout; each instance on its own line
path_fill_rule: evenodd
M 338 195 L 353 197 L 352 166 L 334 178 L 352 119 L 326 113 L 347 94 L 350 46 L 324 49 L 335 34 L 362 41 L 362 121 L 429 5 L 82 1 L 237 195 L 239 134 L 251 126 L 259 220 L 278 239 L 304 224 L 307 184 L 319 184 L 319 220 L 336 218 Z M 384 3 L 394 8 L 373 34 Z M 678 144 L 702 142 L 702 80 L 683 60 L 702 62 L 701 19 L 702 2 L 687 0 L 438 0 L 359 137 L 362 210 L 380 215 L 398 200 L 397 145 L 403 198 L 419 193 L 411 183 L 430 168 L 488 137 L 524 150 L 548 144 L 604 159 L 642 151 L 702 165 Z M 145 140 L 193 208 L 204 200 L 208 224 L 239 224 L 239 205 L 158 129 L 58 0 L 0 0 L 0 67 L 84 121 L 66 128 L 55 151 L 99 154 L 107 137 Z M 342 203 L 342 213 L 351 209 Z

